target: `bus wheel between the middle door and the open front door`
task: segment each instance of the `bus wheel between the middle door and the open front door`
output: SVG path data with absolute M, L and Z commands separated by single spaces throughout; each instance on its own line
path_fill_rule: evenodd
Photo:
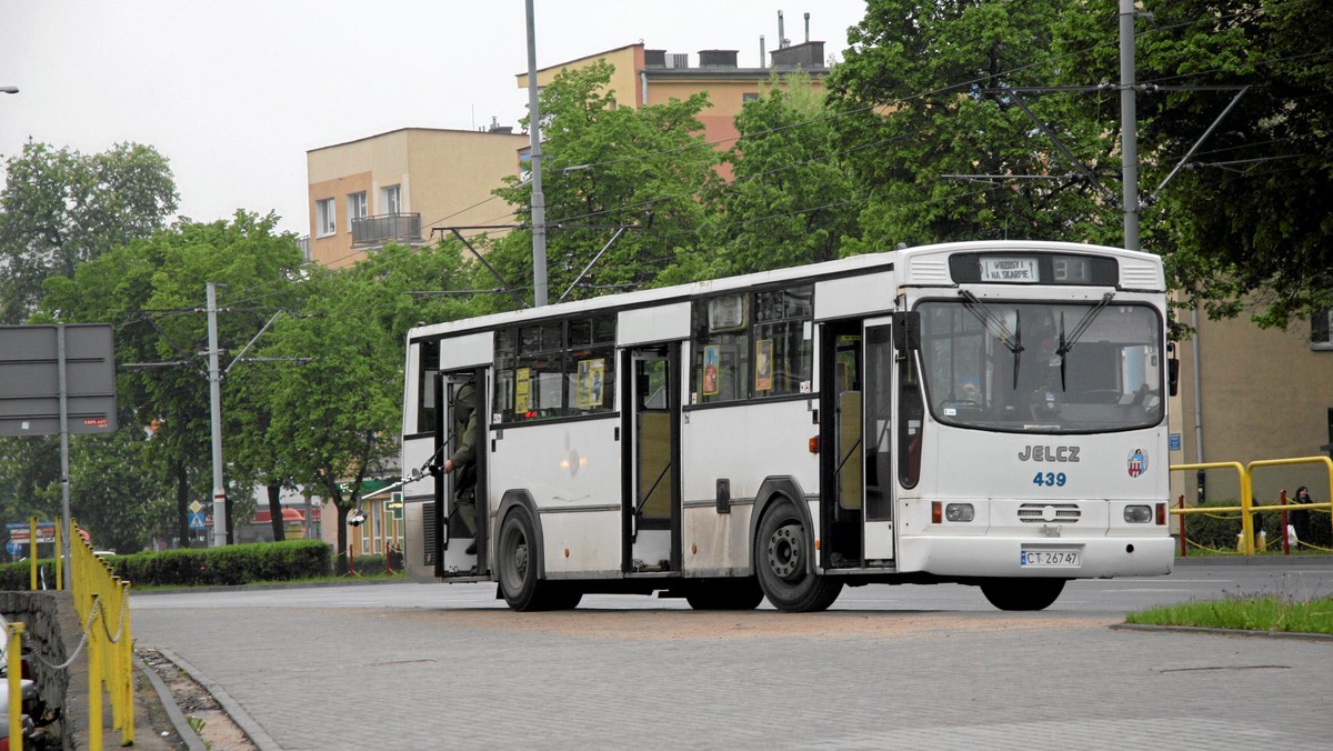
M 810 574 L 810 544 L 801 515 L 789 499 L 768 507 L 754 536 L 754 572 L 758 586 L 786 612 L 828 610 L 842 591 L 842 580 Z

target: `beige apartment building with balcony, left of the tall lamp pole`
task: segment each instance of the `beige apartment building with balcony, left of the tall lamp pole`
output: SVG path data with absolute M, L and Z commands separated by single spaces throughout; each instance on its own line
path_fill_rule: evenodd
M 519 173 L 528 136 L 401 128 L 305 152 L 308 260 L 339 268 L 387 243 L 431 241 L 439 225 L 512 221 L 491 191 Z

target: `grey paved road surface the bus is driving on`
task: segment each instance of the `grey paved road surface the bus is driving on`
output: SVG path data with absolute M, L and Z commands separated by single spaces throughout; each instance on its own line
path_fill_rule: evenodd
M 1181 566 L 1004 614 L 973 588 L 862 587 L 829 612 L 589 596 L 515 614 L 493 586 L 140 594 L 264 747 L 1333 747 L 1333 643 L 1112 630 L 1152 604 L 1333 592 L 1333 566 Z

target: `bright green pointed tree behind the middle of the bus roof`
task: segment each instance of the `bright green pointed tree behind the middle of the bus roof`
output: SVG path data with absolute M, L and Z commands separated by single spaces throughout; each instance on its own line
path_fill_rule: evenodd
M 774 76 L 736 116 L 725 155 L 732 181 L 709 201 L 714 247 L 708 276 L 832 260 L 857 233 L 861 200 L 824 99 L 808 75 Z

